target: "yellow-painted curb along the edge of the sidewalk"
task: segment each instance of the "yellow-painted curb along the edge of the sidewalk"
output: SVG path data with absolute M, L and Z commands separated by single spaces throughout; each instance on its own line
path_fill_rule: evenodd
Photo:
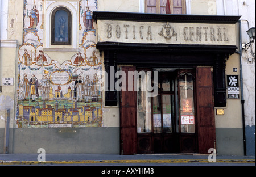
M 54 165 L 54 164 L 78 164 L 78 163 L 255 163 L 255 159 L 221 159 L 209 162 L 203 159 L 176 159 L 176 160 L 98 160 L 98 161 L 0 161 L 0 165 Z

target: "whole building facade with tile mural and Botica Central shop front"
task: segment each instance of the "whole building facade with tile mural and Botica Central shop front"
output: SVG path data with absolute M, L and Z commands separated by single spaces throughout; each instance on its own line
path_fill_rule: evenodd
M 255 155 L 255 2 L 0 2 L 3 153 Z

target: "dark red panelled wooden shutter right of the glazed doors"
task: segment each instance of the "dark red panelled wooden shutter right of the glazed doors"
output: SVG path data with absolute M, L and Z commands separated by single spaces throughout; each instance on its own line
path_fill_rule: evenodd
M 196 68 L 197 129 L 199 153 L 216 149 L 212 68 Z

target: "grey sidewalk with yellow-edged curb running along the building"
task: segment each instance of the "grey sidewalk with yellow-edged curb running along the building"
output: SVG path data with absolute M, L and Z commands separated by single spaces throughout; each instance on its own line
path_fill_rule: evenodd
M 208 154 L 46 154 L 45 162 L 38 154 L 0 154 L 0 165 L 36 165 L 36 164 L 102 164 L 113 163 L 208 163 Z M 216 155 L 218 163 L 255 163 L 255 156 Z

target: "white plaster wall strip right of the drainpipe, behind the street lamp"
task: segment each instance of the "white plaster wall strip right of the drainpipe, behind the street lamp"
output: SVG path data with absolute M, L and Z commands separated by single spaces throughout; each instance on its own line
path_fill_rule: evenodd
M 242 21 L 242 43 L 249 43 L 250 40 L 246 31 L 251 27 L 255 27 L 255 1 L 238 2 L 240 3 L 239 13 L 242 15 L 241 20 L 244 19 Z M 255 41 L 247 52 L 243 50 L 242 66 L 245 125 L 251 126 L 255 125 Z

